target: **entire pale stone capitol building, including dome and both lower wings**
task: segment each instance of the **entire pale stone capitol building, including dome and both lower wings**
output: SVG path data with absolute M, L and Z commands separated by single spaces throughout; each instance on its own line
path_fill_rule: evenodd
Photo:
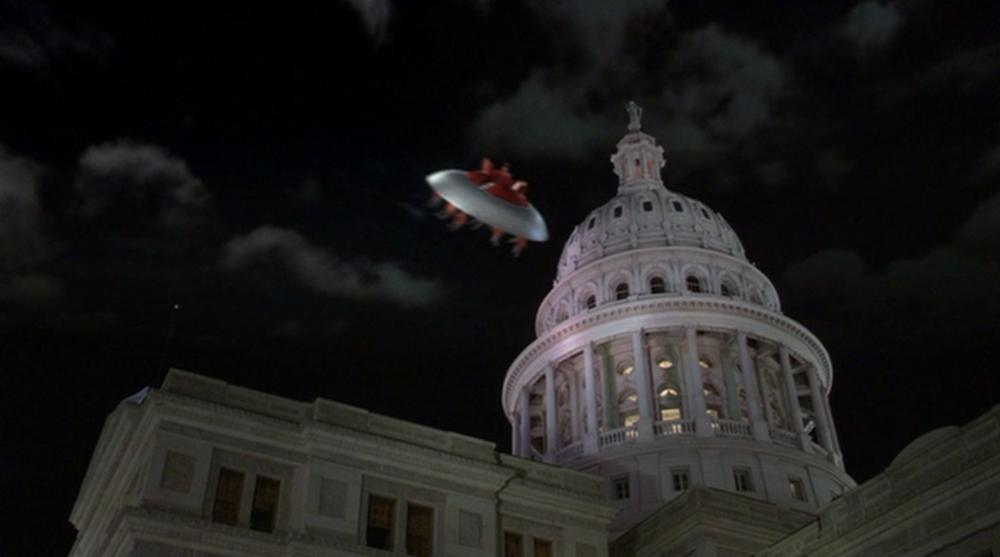
M 173 369 L 109 415 L 71 556 L 1000 556 L 1000 406 L 858 485 L 830 355 L 628 111 L 499 393 L 512 455 Z

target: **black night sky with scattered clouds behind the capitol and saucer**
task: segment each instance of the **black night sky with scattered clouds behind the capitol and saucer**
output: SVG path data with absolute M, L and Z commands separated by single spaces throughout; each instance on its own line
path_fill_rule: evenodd
M 995 2 L 250 4 L 0 0 L 0 554 L 68 553 L 105 416 L 170 366 L 509 450 L 630 99 L 825 343 L 857 480 L 1000 402 Z M 424 176 L 482 156 L 552 241 L 433 218 Z

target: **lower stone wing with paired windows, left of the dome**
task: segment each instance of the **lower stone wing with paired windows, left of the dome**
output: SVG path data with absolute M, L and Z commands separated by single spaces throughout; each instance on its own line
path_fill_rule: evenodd
M 263 522 L 259 479 L 278 486 Z M 394 507 L 390 550 L 370 547 L 373 496 Z M 429 509 L 430 548 L 418 553 L 435 557 L 493 557 L 504 534 L 520 536 L 525 557 L 535 540 L 606 557 L 614 514 L 599 479 L 492 443 L 171 370 L 108 417 L 70 518 L 71 555 L 402 554 L 417 551 L 410 506 Z

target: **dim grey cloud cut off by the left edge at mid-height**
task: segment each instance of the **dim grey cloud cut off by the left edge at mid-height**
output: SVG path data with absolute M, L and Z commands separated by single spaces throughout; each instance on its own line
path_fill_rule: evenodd
M 51 254 L 39 197 L 41 170 L 0 145 L 0 269 L 31 267 Z

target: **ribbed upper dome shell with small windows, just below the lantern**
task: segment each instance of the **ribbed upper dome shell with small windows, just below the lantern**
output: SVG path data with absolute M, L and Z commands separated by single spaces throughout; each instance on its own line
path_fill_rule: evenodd
M 649 183 L 620 188 L 573 229 L 559 257 L 556 282 L 598 259 L 641 248 L 703 248 L 745 259 L 726 219 L 704 203 Z

